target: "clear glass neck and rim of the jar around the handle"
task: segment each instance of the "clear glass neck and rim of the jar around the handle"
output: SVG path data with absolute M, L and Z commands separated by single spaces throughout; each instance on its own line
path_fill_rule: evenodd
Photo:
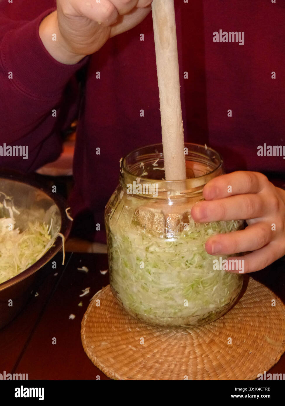
M 222 157 L 213 149 L 185 143 L 187 179 L 166 181 L 162 144 L 132 151 L 121 160 L 120 184 L 126 193 L 146 199 L 183 199 L 202 195 L 207 182 L 224 173 Z

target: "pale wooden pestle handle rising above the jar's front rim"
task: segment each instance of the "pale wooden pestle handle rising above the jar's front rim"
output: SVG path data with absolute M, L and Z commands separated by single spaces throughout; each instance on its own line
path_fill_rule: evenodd
M 173 0 L 153 0 L 152 19 L 165 180 L 186 179 L 178 52 Z

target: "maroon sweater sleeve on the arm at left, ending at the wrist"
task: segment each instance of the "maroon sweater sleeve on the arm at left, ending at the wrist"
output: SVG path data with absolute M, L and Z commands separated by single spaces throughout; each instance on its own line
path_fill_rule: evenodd
M 0 11 L 0 168 L 29 172 L 55 160 L 60 131 L 76 110 L 75 73 L 88 58 L 65 65 L 46 51 L 39 24 L 53 10 L 32 21 L 11 20 Z M 13 156 L 23 146 L 28 154 Z

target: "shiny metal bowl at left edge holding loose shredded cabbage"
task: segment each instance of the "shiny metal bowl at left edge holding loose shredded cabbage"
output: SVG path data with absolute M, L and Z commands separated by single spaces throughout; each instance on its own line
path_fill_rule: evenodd
M 1 175 L 0 201 L 3 199 L 3 193 L 11 197 L 14 207 L 20 212 L 14 214 L 15 227 L 24 230 L 30 220 L 39 220 L 46 224 L 52 222 L 51 236 L 60 232 L 67 238 L 72 221 L 67 218 L 65 201 L 58 197 L 57 193 L 43 190 L 33 181 L 25 181 L 20 176 Z M 0 328 L 13 320 L 22 310 L 37 283 L 36 272 L 50 261 L 61 247 L 62 239 L 58 236 L 53 246 L 33 265 L 0 284 Z M 11 299 L 13 302 L 9 302 Z

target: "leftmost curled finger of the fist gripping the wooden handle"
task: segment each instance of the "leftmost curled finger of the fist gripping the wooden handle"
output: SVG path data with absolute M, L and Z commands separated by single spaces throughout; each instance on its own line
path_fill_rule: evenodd
M 100 0 L 100 3 L 97 3 L 96 0 L 89 0 L 87 2 L 72 0 L 70 4 L 78 15 L 87 17 L 104 26 L 115 24 L 119 15 L 116 7 L 109 0 Z M 62 9 L 63 12 L 68 15 L 68 11 L 65 11 L 64 7 L 62 7 Z

